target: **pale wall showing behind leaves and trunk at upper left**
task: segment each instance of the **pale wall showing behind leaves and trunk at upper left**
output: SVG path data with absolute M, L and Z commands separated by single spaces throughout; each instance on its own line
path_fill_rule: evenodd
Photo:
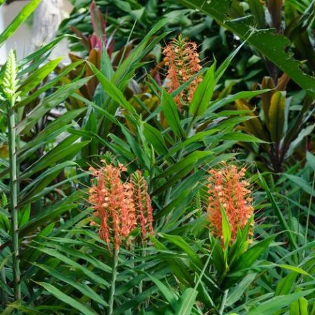
M 27 1 L 14 1 L 10 5 L 1 5 L 0 7 L 0 32 L 13 20 Z M 65 14 L 71 11 L 71 5 L 68 0 L 64 0 L 63 11 Z M 17 58 L 21 59 L 30 53 L 30 42 L 32 38 L 32 25 L 23 23 L 19 29 L 13 34 L 9 40 L 5 42 L 5 45 L 0 49 L 0 64 L 3 64 L 6 60 L 6 56 L 10 49 L 16 49 Z M 67 42 L 62 42 L 56 47 L 51 58 L 59 55 L 67 55 Z

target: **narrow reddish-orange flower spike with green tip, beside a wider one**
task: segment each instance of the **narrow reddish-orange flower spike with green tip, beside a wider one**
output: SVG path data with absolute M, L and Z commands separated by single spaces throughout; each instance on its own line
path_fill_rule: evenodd
M 137 223 L 141 227 L 142 238 L 147 234 L 153 234 L 153 209 L 150 195 L 148 194 L 148 183 L 140 171 L 132 174 L 131 182 L 134 187 L 134 201 Z

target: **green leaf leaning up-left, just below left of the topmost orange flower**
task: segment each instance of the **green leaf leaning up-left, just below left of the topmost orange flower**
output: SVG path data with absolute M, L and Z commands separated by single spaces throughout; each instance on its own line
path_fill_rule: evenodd
M 180 125 L 176 103 L 173 97 L 165 90 L 162 92 L 161 105 L 165 114 L 165 119 L 170 125 L 172 131 L 174 131 L 174 134 L 183 139 L 187 138 L 183 127 Z

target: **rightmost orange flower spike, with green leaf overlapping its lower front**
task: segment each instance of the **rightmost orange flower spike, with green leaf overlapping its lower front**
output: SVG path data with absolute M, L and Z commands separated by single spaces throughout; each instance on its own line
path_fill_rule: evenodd
M 244 179 L 246 168 L 238 169 L 235 165 L 222 162 L 219 169 L 211 169 L 208 179 L 208 212 L 212 234 L 222 236 L 222 214 L 224 208 L 231 225 L 231 241 L 235 240 L 237 229 L 243 229 L 253 216 L 250 185 Z

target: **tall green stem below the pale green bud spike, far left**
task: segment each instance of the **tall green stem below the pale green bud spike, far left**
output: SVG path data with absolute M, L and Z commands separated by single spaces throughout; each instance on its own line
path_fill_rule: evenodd
M 17 209 L 18 182 L 16 179 L 16 129 L 14 101 L 8 103 L 8 134 L 10 157 L 10 209 L 11 209 L 11 233 L 12 233 L 12 258 L 13 258 L 13 282 L 15 299 L 21 299 L 20 285 L 20 257 L 19 257 L 19 226 Z

